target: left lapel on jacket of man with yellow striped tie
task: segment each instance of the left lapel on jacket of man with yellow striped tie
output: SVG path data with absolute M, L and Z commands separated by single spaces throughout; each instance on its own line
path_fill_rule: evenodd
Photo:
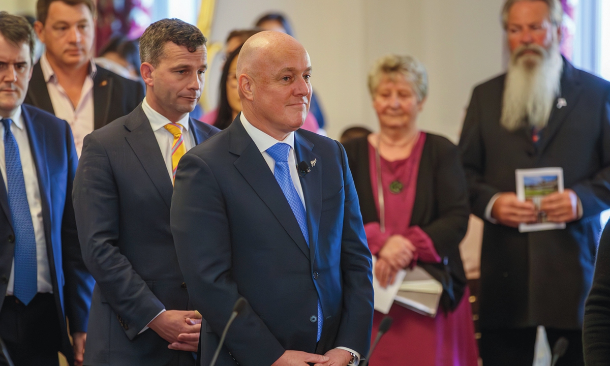
M 152 131 L 148 118 L 146 118 L 142 110 L 142 104 L 136 107 L 134 112 L 130 113 L 125 122 L 125 127 L 130 131 L 125 140 L 134 150 L 138 160 L 142 163 L 146 173 L 169 208 L 174 187 L 167 173 L 167 167 L 159 149 L 157 138 Z

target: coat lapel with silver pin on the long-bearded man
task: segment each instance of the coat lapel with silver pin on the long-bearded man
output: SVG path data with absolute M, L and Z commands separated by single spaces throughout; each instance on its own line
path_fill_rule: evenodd
M 565 99 L 564 104 L 559 103 L 559 99 L 553 102 L 553 110 L 549 117 L 547 127 L 543 130 L 542 141 L 540 142 L 540 154 L 542 154 L 559 131 L 559 127 L 576 106 L 576 102 L 583 90 L 580 80 L 576 76 L 576 70 L 567 60 L 564 60 L 564 72 L 561 77 L 561 98 Z

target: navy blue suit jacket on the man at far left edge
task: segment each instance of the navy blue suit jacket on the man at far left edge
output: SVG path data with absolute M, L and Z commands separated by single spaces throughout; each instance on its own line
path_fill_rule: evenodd
M 82 261 L 72 207 L 72 181 L 78 158 L 66 121 L 36 107 L 21 106 L 38 176 L 43 226 L 57 318 L 62 329 L 62 353 L 72 362 L 70 332 L 86 332 L 93 278 Z M 0 179 L 0 309 L 15 253 L 15 231 L 4 181 Z

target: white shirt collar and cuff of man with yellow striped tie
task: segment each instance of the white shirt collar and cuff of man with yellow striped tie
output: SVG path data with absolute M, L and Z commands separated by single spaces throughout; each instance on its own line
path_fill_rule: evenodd
M 171 146 L 174 145 L 174 135 L 172 135 L 170 131 L 167 131 L 167 129 L 165 129 L 165 125 L 171 123 L 171 121 L 165 118 L 161 113 L 152 109 L 150 104 L 148 104 L 148 101 L 146 101 L 146 98 L 144 98 L 144 100 L 142 101 L 142 110 L 144 110 L 144 114 L 146 115 L 146 118 L 148 118 L 148 121 L 151 124 L 152 132 L 154 132 L 154 137 L 157 138 L 157 143 L 159 143 L 159 149 L 161 150 L 163 160 L 165 160 L 165 167 L 167 168 L 167 173 L 170 175 L 170 179 L 173 182 L 174 169 L 171 166 Z M 184 140 L 184 146 L 187 151 L 193 148 L 193 146 L 195 146 L 195 137 L 193 137 L 193 134 L 188 131 L 189 118 L 190 117 L 188 117 L 187 113 L 187 115 L 185 115 L 182 120 L 179 120 L 177 122 L 178 124 L 181 124 L 182 127 L 184 127 L 182 129 L 182 138 Z M 159 314 L 152 318 L 151 321 L 148 322 L 148 325 L 146 325 L 138 334 L 141 334 L 142 332 L 146 331 L 150 323 L 155 320 L 159 315 L 161 315 L 164 311 L 165 309 L 161 310 Z

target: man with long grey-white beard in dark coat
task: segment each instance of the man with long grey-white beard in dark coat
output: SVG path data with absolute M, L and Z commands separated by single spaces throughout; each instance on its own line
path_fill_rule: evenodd
M 472 212 L 485 220 L 481 253 L 481 357 L 533 362 L 536 327 L 551 346 L 569 340 L 557 365 L 583 365 L 581 327 L 600 234 L 610 207 L 610 83 L 559 52 L 559 0 L 506 0 L 508 73 L 478 85 L 460 148 Z M 515 195 L 515 169 L 562 167 L 562 193 L 540 210 L 565 229 L 519 232 L 536 221 Z

